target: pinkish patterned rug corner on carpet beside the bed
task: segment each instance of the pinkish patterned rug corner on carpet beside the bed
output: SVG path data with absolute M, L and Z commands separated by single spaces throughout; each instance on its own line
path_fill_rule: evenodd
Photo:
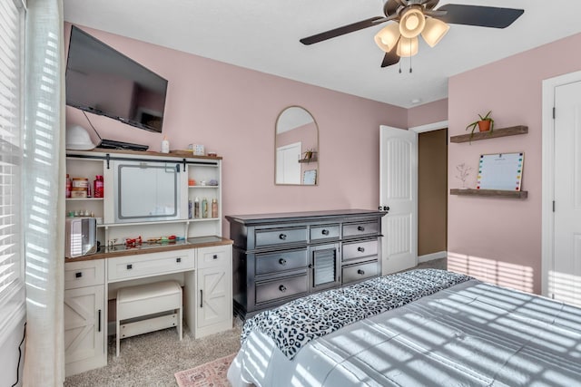
M 226 373 L 234 356 L 236 353 L 231 353 L 190 370 L 176 372 L 175 380 L 180 387 L 230 387 Z

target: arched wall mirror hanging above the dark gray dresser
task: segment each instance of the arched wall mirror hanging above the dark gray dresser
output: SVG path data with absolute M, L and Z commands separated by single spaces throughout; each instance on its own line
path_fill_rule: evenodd
M 276 120 L 274 182 L 318 185 L 319 128 L 309 111 L 290 106 Z

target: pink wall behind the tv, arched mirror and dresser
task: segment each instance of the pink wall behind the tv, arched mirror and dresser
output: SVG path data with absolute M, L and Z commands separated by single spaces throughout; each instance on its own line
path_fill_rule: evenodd
M 82 29 L 169 82 L 162 134 L 90 114 L 97 131 L 150 150 L 160 150 L 165 135 L 172 150 L 198 143 L 217 151 L 223 214 L 378 206 L 379 125 L 407 128 L 406 109 Z M 68 41 L 70 24 L 64 30 Z M 306 108 L 319 126 L 319 186 L 274 185 L 274 125 L 290 105 Z M 90 129 L 81 111 L 67 107 L 66 117 Z M 224 221 L 226 237 L 228 227 Z

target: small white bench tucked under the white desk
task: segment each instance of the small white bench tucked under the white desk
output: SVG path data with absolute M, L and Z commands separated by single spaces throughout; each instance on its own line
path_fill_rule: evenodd
M 121 339 L 172 326 L 182 340 L 182 286 L 177 281 L 117 290 L 117 356 Z

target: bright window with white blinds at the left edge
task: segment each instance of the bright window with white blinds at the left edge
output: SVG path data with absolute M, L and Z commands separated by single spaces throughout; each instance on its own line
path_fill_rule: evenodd
M 0 0 L 0 344 L 25 313 L 22 244 L 24 7 Z

